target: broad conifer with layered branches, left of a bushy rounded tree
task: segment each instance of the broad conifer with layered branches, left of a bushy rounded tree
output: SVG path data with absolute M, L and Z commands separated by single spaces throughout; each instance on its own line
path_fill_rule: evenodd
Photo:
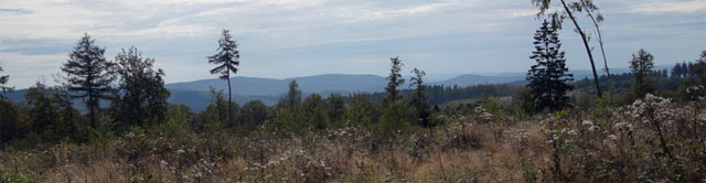
M 100 99 L 110 99 L 113 92 L 110 83 L 115 75 L 110 72 L 113 63 L 104 56 L 106 50 L 95 44 L 88 34 L 78 41 L 78 44 L 68 54 L 68 60 L 62 66 L 67 74 L 66 87 L 72 93 L 72 98 L 88 98 L 86 107 L 90 115 L 90 127 L 96 128 L 96 110 L 99 109 Z

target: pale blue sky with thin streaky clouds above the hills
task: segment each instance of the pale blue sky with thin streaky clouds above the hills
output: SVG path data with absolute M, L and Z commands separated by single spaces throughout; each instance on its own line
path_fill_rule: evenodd
M 706 50 L 704 0 L 595 0 L 609 67 L 628 67 L 645 49 L 655 65 L 694 61 Z M 556 8 L 556 7 L 555 7 Z M 542 20 L 531 0 L 0 0 L 0 67 L 8 86 L 52 74 L 88 33 L 106 57 L 136 46 L 164 69 L 167 83 L 217 78 L 206 56 L 223 29 L 239 44 L 236 76 L 403 72 L 430 79 L 459 74 L 526 73 Z M 592 24 L 597 67 L 602 58 Z M 559 32 L 569 69 L 590 69 L 573 24 Z

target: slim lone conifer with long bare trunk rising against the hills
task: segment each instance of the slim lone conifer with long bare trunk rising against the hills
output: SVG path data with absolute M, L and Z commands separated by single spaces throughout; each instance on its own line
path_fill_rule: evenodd
M 237 50 L 238 44 L 231 40 L 229 31 L 224 29 L 222 35 L 221 40 L 218 40 L 218 53 L 208 56 L 208 63 L 218 65 L 211 69 L 211 74 L 220 74 L 220 78 L 228 82 L 228 120 L 232 120 L 233 115 L 231 114 L 233 114 L 233 108 L 231 103 L 233 101 L 233 95 L 231 89 L 231 73 L 235 75 L 238 72 L 240 54 Z

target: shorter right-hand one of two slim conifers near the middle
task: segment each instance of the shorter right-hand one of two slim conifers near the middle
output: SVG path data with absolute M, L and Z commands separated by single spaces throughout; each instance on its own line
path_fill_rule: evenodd
M 417 68 L 411 71 L 411 73 L 415 74 L 415 77 L 411 77 L 409 86 L 415 87 L 415 92 L 411 94 L 410 105 L 415 108 L 417 123 L 421 127 L 430 128 L 431 123 L 429 122 L 429 118 L 431 117 L 431 109 L 429 107 L 429 99 L 425 94 L 427 87 L 421 79 L 426 73 Z

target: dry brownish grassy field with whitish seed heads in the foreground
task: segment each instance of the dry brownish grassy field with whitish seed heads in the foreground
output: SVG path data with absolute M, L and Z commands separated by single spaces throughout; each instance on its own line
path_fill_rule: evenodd
M 648 96 L 534 117 L 438 114 L 434 129 L 194 134 L 169 123 L 0 151 L 0 182 L 706 182 L 704 103 Z

